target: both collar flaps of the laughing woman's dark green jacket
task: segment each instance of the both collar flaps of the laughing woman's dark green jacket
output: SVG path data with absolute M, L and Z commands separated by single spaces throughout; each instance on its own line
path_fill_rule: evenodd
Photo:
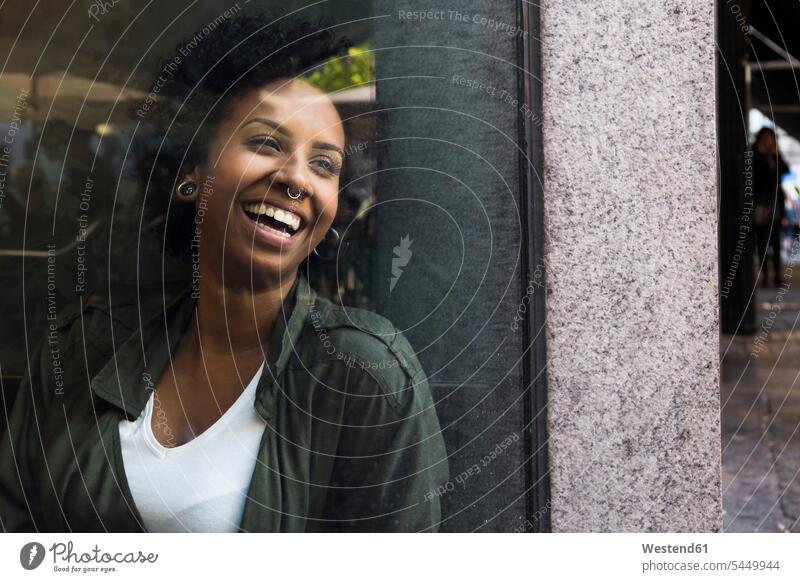
M 297 349 L 315 298 L 306 278 L 298 273 L 275 322 L 267 366 L 256 392 L 255 408 L 265 420 L 272 416 L 278 381 Z M 164 301 L 143 305 L 141 326 L 113 349 L 111 358 L 91 380 L 92 392 L 123 410 L 130 419 L 138 418 L 191 322 L 196 303 L 191 287 L 184 287 Z M 116 319 L 113 310 L 109 310 L 109 315 Z

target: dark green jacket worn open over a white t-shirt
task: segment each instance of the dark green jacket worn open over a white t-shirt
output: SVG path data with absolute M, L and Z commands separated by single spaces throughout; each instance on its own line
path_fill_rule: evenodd
M 0 440 L 6 531 L 145 531 L 125 478 L 137 418 L 195 301 L 91 296 L 48 321 Z M 169 346 L 169 347 L 168 347 Z M 427 379 L 384 318 L 298 276 L 255 408 L 267 423 L 240 530 L 435 531 L 447 458 Z

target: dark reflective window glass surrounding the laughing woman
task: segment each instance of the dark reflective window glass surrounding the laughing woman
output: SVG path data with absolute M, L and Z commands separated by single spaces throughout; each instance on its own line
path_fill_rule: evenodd
M 123 287 L 159 293 L 197 281 L 195 255 L 176 256 L 165 236 L 181 218 L 174 189 L 187 159 L 170 148 L 185 131 L 196 133 L 191 147 L 205 147 L 203 131 L 231 104 L 209 103 L 207 118 L 165 131 L 185 113 L 170 99 L 177 69 L 202 66 L 217 30 L 263 10 L 255 4 L 0 10 L 9 56 L 0 74 L 0 371 L 9 408 L 35 346 L 69 306 L 93 291 L 113 302 Z M 435 529 L 535 528 L 531 463 L 542 453 L 529 438 L 538 417 L 528 371 L 542 339 L 528 322 L 543 269 L 527 273 L 533 174 L 521 136 L 538 118 L 524 97 L 528 32 L 518 7 L 306 4 L 283 2 L 281 11 L 350 48 L 299 75 L 335 103 L 346 138 L 333 230 L 301 271 L 335 304 L 387 318 L 419 359 L 449 466 L 449 478 L 417 500 L 441 505 Z

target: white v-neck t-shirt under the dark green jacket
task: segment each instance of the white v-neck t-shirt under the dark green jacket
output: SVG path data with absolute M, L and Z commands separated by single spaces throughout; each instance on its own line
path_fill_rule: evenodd
M 261 364 L 225 414 L 179 447 L 164 447 L 153 434 L 155 392 L 139 418 L 120 421 L 125 474 L 148 530 L 238 531 L 266 426 L 253 407 L 263 371 Z

